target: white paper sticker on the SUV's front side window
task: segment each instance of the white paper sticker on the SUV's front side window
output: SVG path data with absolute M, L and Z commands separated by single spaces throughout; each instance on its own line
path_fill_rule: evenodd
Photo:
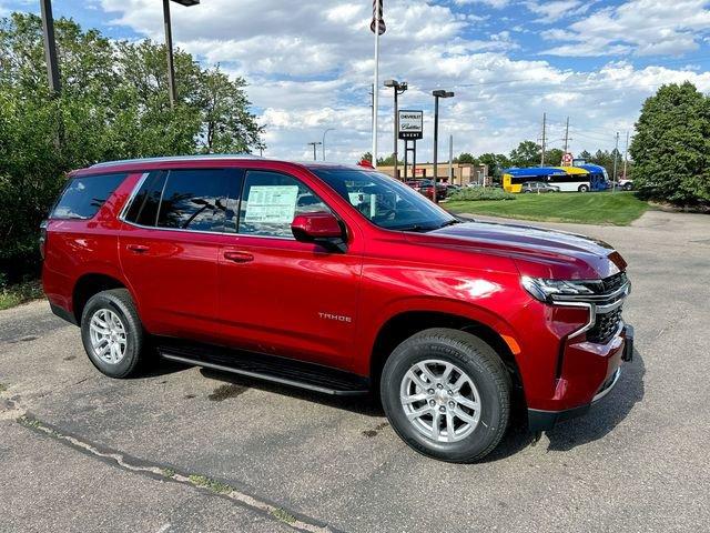
M 290 224 L 296 214 L 298 185 L 253 185 L 248 191 L 244 222 Z

